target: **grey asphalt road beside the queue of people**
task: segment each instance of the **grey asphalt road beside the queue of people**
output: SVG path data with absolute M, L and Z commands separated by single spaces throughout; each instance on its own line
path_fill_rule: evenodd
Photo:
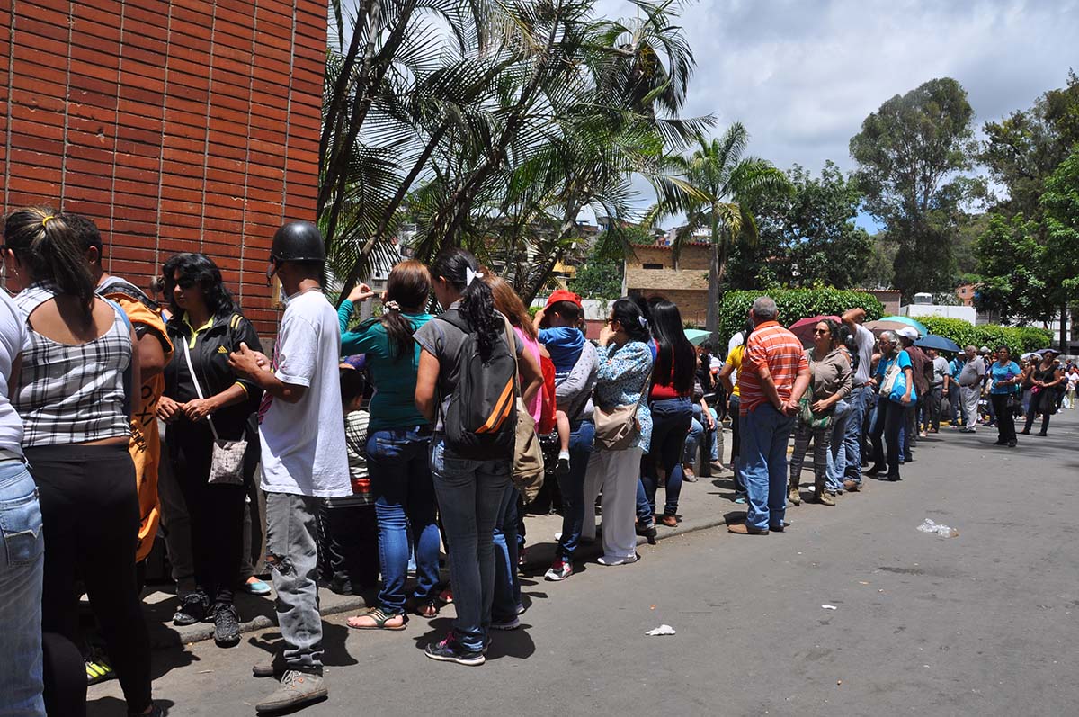
M 402 633 L 333 618 L 330 698 L 302 714 L 1079 714 L 1077 415 L 1016 449 L 942 429 L 901 483 L 803 503 L 781 535 L 706 530 L 632 566 L 528 578 L 525 627 L 496 634 L 480 667 L 423 657 L 445 617 Z M 927 517 L 958 537 L 918 532 Z M 644 636 L 663 623 L 678 634 Z M 155 652 L 155 696 L 174 717 L 252 715 L 273 682 L 250 664 L 274 636 Z M 90 714 L 123 715 L 117 695 L 91 688 Z

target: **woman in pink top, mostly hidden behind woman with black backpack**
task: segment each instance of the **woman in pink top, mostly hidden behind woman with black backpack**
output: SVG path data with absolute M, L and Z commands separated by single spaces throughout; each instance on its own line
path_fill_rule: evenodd
M 495 276 L 489 269 L 484 269 L 487 283 L 494 295 L 494 308 L 497 309 L 508 321 L 514 332 L 521 337 L 527 351 L 531 351 L 540 363 L 540 342 L 536 340 L 536 329 L 532 326 L 532 319 L 521 297 L 509 285 L 505 279 Z M 528 404 L 529 412 L 540 424 L 540 411 L 543 406 L 543 391 L 536 393 Z M 491 628 L 492 630 L 516 630 L 520 626 L 517 615 L 521 608 L 521 585 L 517 580 L 517 564 L 519 556 L 523 554 L 524 533 L 518 530 L 518 510 L 523 510 L 524 505 L 518 505 L 520 495 L 517 488 L 510 484 L 506 488 L 506 495 L 502 502 L 502 518 L 494 526 L 494 603 L 491 605 Z M 520 538 L 518 538 L 520 536 Z

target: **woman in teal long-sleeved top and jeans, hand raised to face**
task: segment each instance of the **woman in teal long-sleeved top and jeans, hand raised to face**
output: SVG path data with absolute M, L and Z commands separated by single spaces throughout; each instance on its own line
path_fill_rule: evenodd
M 363 353 L 374 384 L 367 436 L 367 466 L 371 475 L 374 511 L 379 518 L 379 564 L 382 590 L 379 606 L 350 618 L 356 630 L 405 627 L 405 582 L 409 543 L 415 546 L 416 584 L 410 596 L 423 618 L 438 614 L 438 524 L 435 485 L 427 454 L 431 421 L 415 407 L 415 378 L 420 346 L 413 334 L 431 321 L 426 311 L 431 273 L 419 261 L 401 261 L 391 271 L 382 297 L 382 315 L 347 329 L 355 302 L 374 293 L 357 286 L 338 310 L 341 351 Z

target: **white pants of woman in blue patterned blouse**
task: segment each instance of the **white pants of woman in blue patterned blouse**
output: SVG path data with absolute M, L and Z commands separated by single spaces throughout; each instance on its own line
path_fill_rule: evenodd
M 593 450 L 585 473 L 585 524 L 581 537 L 596 539 L 596 496 L 603 490 L 603 558 L 632 559 L 637 555 L 637 482 L 641 478 L 640 448 Z

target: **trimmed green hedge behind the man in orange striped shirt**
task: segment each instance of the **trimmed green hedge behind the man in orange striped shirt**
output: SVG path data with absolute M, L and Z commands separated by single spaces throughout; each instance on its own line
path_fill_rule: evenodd
M 866 321 L 884 315 L 884 305 L 872 294 L 836 288 L 784 288 L 770 292 L 727 292 L 720 303 L 720 338 L 724 346 L 732 336 L 746 326 L 753 300 L 770 296 L 779 308 L 779 322 L 789 326 L 809 316 L 836 316 L 849 309 L 865 309 Z

